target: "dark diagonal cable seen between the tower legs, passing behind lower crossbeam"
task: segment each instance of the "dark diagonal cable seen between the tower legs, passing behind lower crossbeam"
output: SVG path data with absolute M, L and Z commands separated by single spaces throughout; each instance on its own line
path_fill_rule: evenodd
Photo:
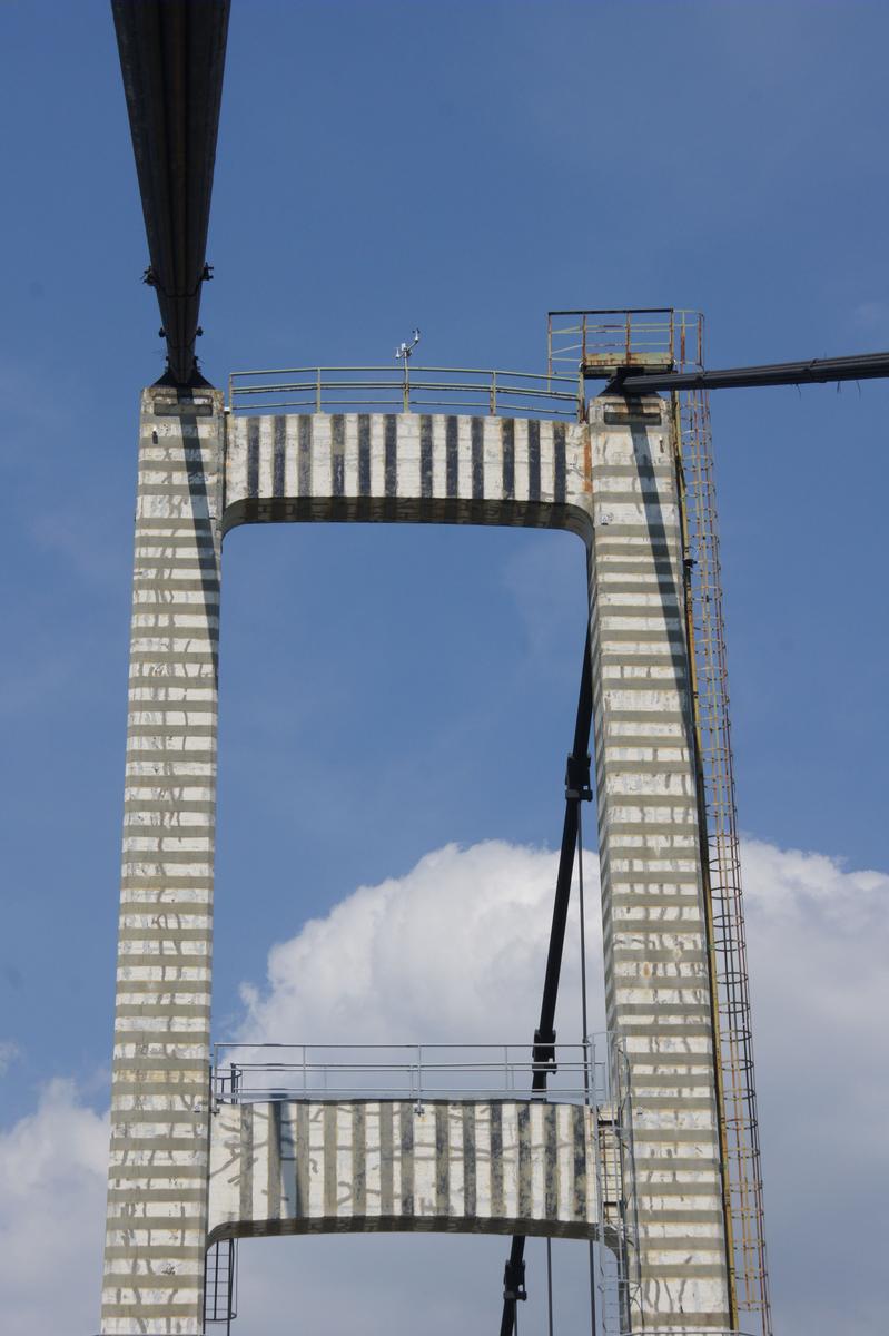
M 581 692 L 574 724 L 574 744 L 567 759 L 567 771 L 565 775 L 565 822 L 562 824 L 562 847 L 559 851 L 559 867 L 555 878 L 553 925 L 550 927 L 550 946 L 546 957 L 546 974 L 543 977 L 541 1019 L 537 1030 L 534 1031 L 534 1047 L 531 1050 L 531 1090 L 535 1094 L 546 1090 L 549 1074 L 555 1067 L 555 1002 L 559 991 L 565 930 L 567 926 L 569 900 L 571 895 L 571 878 L 574 875 L 574 855 L 577 851 L 579 827 L 579 804 L 582 802 L 589 802 L 593 796 L 590 788 L 591 724 L 593 649 L 590 633 L 587 631 L 586 644 L 583 647 Z M 515 1305 L 519 1299 L 525 1297 L 525 1234 L 515 1234 L 510 1256 L 506 1263 L 506 1269 L 503 1272 L 503 1315 L 501 1317 L 501 1336 L 511 1336 L 514 1332 L 517 1316 Z

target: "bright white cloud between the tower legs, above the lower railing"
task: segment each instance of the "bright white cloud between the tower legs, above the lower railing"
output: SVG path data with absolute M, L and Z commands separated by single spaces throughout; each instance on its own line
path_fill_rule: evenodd
M 537 1025 L 558 855 L 489 840 L 449 844 L 406 876 L 362 886 L 274 946 L 262 989 L 246 986 L 244 1041 L 521 1042 Z M 586 921 L 601 959 L 598 859 L 587 854 Z M 593 1011 L 602 1019 L 601 970 Z M 561 1034 L 581 1037 L 578 914 L 562 977 Z M 569 999 L 574 1009 L 569 1014 Z

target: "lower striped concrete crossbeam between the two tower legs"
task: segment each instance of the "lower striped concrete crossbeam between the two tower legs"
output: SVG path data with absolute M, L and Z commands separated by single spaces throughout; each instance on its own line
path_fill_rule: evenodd
M 595 1113 L 531 1101 L 275 1101 L 212 1117 L 211 1238 L 382 1229 L 591 1237 Z

